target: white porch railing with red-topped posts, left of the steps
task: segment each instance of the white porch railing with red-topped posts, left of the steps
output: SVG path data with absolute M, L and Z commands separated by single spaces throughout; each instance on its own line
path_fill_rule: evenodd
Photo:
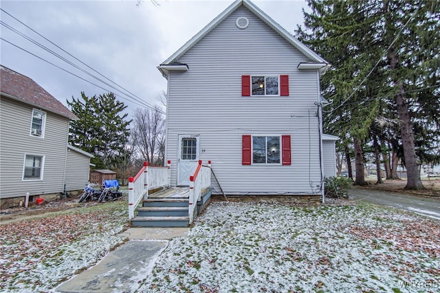
M 170 186 L 170 161 L 167 167 L 144 167 L 137 172 L 136 176 L 129 177 L 129 220 L 135 216 L 135 209 L 140 200 L 148 198 L 148 190 Z

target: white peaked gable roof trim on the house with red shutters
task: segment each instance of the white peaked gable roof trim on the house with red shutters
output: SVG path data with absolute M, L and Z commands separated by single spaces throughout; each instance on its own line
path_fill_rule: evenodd
M 214 27 L 217 27 L 219 23 L 221 23 L 224 19 L 226 19 L 232 12 L 237 10 L 241 5 L 244 5 L 245 8 L 248 8 L 252 13 L 254 13 L 261 21 L 269 25 L 273 30 L 278 32 L 285 40 L 287 40 L 289 43 L 291 43 L 296 49 L 301 51 L 307 58 L 309 58 L 311 61 L 323 63 L 327 66 L 329 66 L 329 62 L 327 62 L 325 59 L 320 57 L 318 54 L 316 54 L 313 50 L 309 49 L 306 45 L 301 43 L 298 39 L 296 39 L 292 34 L 287 32 L 287 30 L 284 29 L 284 27 L 281 27 L 276 21 L 271 19 L 267 14 L 265 14 L 260 8 L 256 7 L 254 3 L 252 3 L 249 0 L 236 0 L 234 3 L 232 3 L 226 10 L 221 12 L 215 19 L 213 19 L 206 27 L 203 27 L 203 29 L 198 32 L 195 36 L 193 36 L 188 42 L 186 42 L 185 45 L 183 45 L 180 49 L 178 49 L 173 55 L 171 55 L 168 59 L 166 59 L 164 62 L 162 62 L 162 65 L 167 65 L 173 62 L 177 62 L 177 59 L 180 58 L 183 54 L 186 53 L 191 47 L 193 47 L 196 43 L 201 40 L 204 36 L 206 36 L 209 32 L 211 32 Z M 161 66 L 162 66 L 161 65 Z M 160 70 L 160 69 L 159 69 Z

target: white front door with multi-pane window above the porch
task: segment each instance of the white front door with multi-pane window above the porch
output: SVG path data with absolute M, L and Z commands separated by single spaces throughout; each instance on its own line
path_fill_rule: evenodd
M 199 161 L 199 135 L 179 134 L 179 167 L 177 186 L 189 186 Z

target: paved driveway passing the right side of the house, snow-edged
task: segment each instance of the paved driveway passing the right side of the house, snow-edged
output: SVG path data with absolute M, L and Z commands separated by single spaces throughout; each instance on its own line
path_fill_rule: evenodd
M 351 189 L 349 195 L 353 200 L 362 200 L 373 204 L 404 209 L 440 220 L 440 200 L 438 199 L 419 198 L 406 194 L 363 189 Z

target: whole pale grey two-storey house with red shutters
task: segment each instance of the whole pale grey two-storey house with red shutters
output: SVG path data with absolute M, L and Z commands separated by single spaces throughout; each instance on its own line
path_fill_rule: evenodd
M 232 3 L 158 67 L 171 184 L 188 185 L 201 160 L 228 195 L 321 195 L 336 175 L 337 138 L 322 136 L 329 66 L 250 1 Z

